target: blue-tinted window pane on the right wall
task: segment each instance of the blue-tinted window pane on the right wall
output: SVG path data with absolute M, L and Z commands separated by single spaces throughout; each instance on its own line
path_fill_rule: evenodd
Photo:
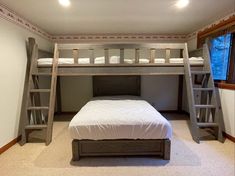
M 210 55 L 215 80 L 227 80 L 232 34 L 225 34 L 211 40 Z

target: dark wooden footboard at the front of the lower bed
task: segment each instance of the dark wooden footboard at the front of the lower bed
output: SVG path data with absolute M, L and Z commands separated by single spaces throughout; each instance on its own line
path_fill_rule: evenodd
M 73 140 L 73 161 L 82 156 L 135 156 L 156 155 L 170 160 L 171 141 L 169 139 L 151 140 Z

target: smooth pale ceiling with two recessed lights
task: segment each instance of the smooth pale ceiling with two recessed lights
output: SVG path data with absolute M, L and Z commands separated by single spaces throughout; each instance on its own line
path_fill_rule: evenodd
M 235 0 L 0 0 L 25 19 L 53 35 L 154 33 L 189 34 L 235 11 Z

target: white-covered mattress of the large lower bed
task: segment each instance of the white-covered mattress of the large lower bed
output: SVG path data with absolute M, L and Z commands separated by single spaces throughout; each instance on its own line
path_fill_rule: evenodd
M 138 99 L 89 101 L 71 120 L 73 139 L 167 139 L 170 123 L 149 103 Z

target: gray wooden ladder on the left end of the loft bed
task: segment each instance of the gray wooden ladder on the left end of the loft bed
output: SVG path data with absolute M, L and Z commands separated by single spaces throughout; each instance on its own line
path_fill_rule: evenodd
M 39 72 L 37 67 L 38 46 L 34 39 L 29 39 L 31 49 L 31 64 L 29 70 L 28 85 L 26 90 L 26 101 L 23 106 L 22 118 L 22 138 L 21 145 L 28 141 L 28 134 L 32 131 L 46 131 L 45 142 L 49 145 L 52 140 L 52 128 L 56 98 L 56 83 L 58 70 L 58 49 L 57 44 L 54 48 L 54 58 L 50 73 Z M 49 77 L 51 79 L 50 88 L 42 89 L 39 87 L 39 77 Z M 40 100 L 42 94 L 49 95 L 49 103 L 43 106 Z M 46 115 L 44 115 L 46 114 Z

